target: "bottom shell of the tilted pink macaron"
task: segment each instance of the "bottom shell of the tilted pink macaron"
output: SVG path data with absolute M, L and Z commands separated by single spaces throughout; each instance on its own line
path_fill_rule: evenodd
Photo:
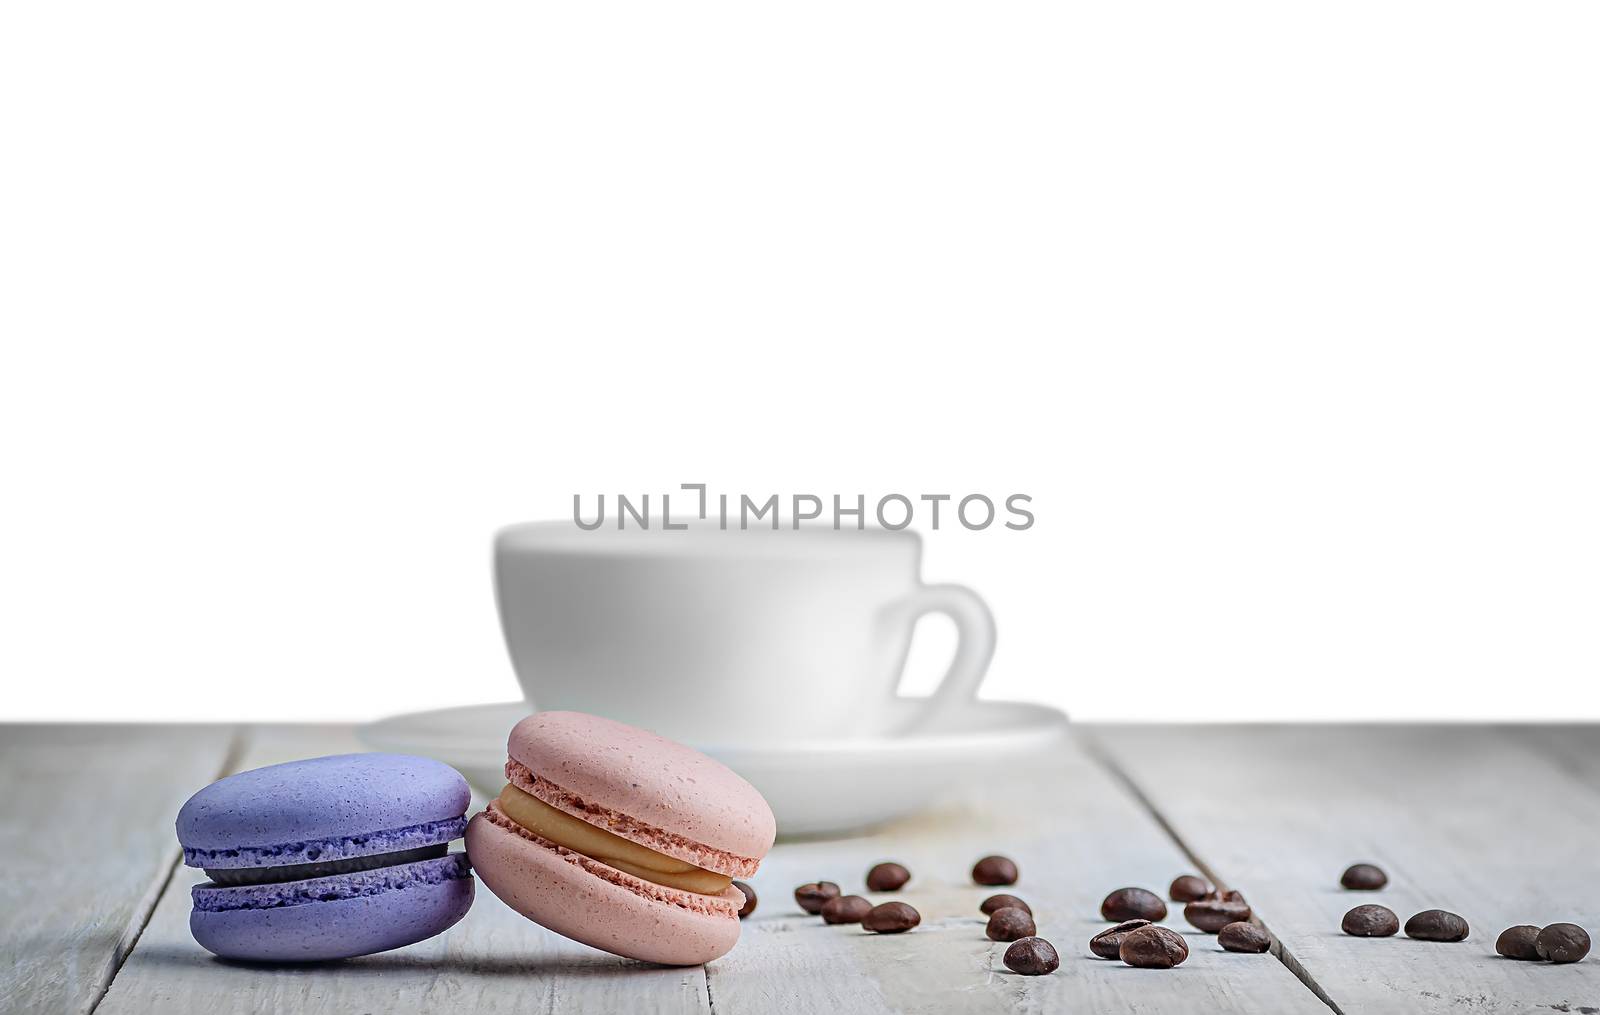
M 507 906 L 555 933 L 611 954 L 662 965 L 699 965 L 728 954 L 739 940 L 742 895 L 726 913 L 696 913 L 645 898 L 597 877 L 550 847 L 501 828 L 483 813 L 467 824 L 467 855 L 483 884 Z M 738 893 L 738 889 L 730 892 Z

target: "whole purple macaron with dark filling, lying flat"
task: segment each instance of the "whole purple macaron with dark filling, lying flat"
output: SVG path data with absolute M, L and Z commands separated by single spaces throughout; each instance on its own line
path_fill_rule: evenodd
M 240 772 L 178 812 L 192 890 L 189 930 L 226 959 L 317 962 L 440 933 L 472 906 L 451 839 L 467 781 L 406 754 L 338 754 Z

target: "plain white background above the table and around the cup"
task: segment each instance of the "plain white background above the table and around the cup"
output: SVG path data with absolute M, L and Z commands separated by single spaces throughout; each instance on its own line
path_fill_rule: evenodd
M 1032 495 L 995 696 L 1600 716 L 1597 29 L 6 5 L 0 709 L 510 698 L 493 530 L 707 482 Z

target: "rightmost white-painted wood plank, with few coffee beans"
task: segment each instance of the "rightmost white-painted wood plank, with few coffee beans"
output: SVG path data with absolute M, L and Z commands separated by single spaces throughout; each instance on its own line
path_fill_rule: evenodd
M 1571 921 L 1600 937 L 1600 792 L 1592 733 L 1576 762 L 1538 730 L 1485 727 L 1101 727 L 1098 741 L 1218 877 L 1238 887 L 1346 1012 L 1595 1012 L 1600 961 L 1494 954 L 1512 924 Z M 1587 765 L 1574 767 L 1574 765 Z M 1346 892 L 1354 861 L 1384 892 Z M 1341 916 L 1459 913 L 1462 943 L 1360 940 Z

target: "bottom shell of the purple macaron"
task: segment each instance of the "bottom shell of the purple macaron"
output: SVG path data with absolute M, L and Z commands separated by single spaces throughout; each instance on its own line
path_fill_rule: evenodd
M 472 908 L 475 882 L 454 877 L 381 895 L 272 909 L 189 914 L 206 951 L 253 962 L 322 962 L 368 956 L 434 937 Z

